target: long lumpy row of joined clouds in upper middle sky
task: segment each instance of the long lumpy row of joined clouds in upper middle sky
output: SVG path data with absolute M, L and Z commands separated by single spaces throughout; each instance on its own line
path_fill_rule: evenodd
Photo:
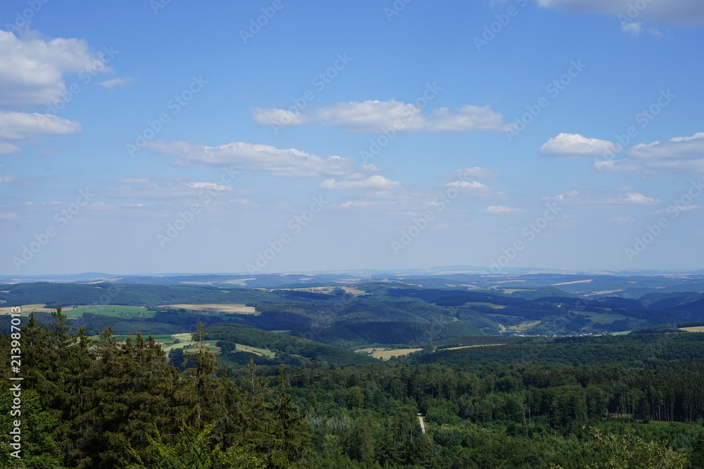
M 254 120 L 260 125 L 301 125 L 306 122 L 318 122 L 350 131 L 377 134 L 424 129 L 434 132 L 503 131 L 513 126 L 504 124 L 503 116 L 495 113 L 488 105 L 465 105 L 456 113 L 448 108 L 440 108 L 435 110 L 432 119 L 429 119 L 417 105 L 395 99 L 335 103 L 312 110 L 308 114 L 279 108 L 252 108 L 251 112 Z

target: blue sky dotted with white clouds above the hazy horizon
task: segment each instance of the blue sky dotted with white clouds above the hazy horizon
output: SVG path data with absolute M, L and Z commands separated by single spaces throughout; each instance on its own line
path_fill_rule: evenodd
M 0 274 L 703 265 L 700 1 L 0 18 Z

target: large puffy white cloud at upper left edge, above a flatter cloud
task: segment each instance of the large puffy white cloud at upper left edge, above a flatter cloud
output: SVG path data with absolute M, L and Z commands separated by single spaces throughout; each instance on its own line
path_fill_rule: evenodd
M 42 39 L 32 32 L 18 38 L 0 30 L 0 105 L 48 105 L 66 90 L 65 73 L 109 71 L 82 39 Z

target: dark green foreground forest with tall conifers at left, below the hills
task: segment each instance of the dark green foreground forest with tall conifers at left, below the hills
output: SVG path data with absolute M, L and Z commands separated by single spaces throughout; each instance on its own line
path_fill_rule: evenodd
M 23 459 L 6 467 L 700 468 L 704 461 L 704 335 L 223 367 L 202 345 L 174 363 L 151 338 L 118 342 L 107 330 L 92 341 L 71 332 L 61 311 L 52 316 L 22 328 Z M 202 344 L 208 333 L 282 351 L 301 346 L 243 326 L 199 328 L 194 338 Z M 2 338 L 6 356 L 12 341 Z M 574 359 L 575 345 L 581 354 L 591 349 L 592 359 Z M 510 359 L 513 347 L 534 351 Z M 671 356 L 668 347 L 696 356 Z M 12 397 L 3 386 L 2 424 L 10 428 Z

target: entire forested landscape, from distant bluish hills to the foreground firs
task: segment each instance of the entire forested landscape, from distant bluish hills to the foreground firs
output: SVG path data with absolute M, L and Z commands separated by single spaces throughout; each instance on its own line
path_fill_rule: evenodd
M 8 285 L 57 309 L 4 316 L 0 467 L 704 468 L 702 294 L 660 290 Z M 216 303 L 256 314 L 173 306 Z

